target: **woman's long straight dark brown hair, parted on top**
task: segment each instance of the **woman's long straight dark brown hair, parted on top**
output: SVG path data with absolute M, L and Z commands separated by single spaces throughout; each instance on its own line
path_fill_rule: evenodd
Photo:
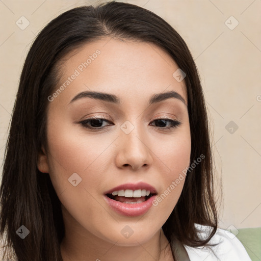
M 165 50 L 186 73 L 193 163 L 184 189 L 163 225 L 174 256 L 174 241 L 191 247 L 207 245 L 217 230 L 213 190 L 213 162 L 205 101 L 196 65 L 185 41 L 164 19 L 136 5 L 109 2 L 71 9 L 50 21 L 32 44 L 24 62 L 5 150 L 0 189 L 0 234 L 6 233 L 8 254 L 20 261 L 61 261 L 64 236 L 61 202 L 49 175 L 37 168 L 38 153 L 46 143 L 47 97 L 57 89 L 58 62 L 71 50 L 103 37 L 136 39 Z M 198 237 L 195 223 L 213 227 Z M 24 225 L 30 236 L 16 231 Z

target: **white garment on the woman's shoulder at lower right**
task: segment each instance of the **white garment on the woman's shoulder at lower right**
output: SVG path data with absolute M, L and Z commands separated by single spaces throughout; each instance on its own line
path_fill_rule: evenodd
M 198 229 L 199 237 L 206 238 L 211 231 L 211 227 L 195 224 Z M 251 261 L 247 251 L 239 239 L 229 231 L 218 228 L 215 235 L 209 242 L 217 244 L 213 247 L 189 247 L 184 246 L 188 252 L 191 261 Z

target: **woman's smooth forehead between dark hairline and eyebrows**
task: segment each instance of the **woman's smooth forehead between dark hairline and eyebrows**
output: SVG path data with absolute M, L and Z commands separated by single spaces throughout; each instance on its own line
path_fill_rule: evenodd
M 187 103 L 185 81 L 173 76 L 177 69 L 166 51 L 154 44 L 103 38 L 76 48 L 60 61 L 56 90 L 64 88 L 56 102 L 68 104 L 83 91 L 113 93 L 125 102 L 176 91 Z

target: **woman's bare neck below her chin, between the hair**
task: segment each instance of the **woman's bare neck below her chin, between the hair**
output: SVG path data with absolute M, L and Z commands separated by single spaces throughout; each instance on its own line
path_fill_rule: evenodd
M 64 220 L 65 236 L 61 243 L 63 261 L 173 261 L 171 249 L 162 228 L 144 244 L 119 246 L 108 242 L 82 227 Z M 75 223 L 74 223 L 75 224 Z

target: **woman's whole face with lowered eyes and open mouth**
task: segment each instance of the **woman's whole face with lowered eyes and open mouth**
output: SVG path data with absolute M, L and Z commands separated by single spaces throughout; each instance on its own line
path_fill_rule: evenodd
M 122 246 L 146 242 L 173 211 L 190 164 L 186 86 L 173 76 L 178 66 L 152 44 L 111 38 L 82 46 L 62 64 L 48 97 L 48 149 L 38 168 L 49 173 L 74 232 Z M 174 95 L 153 96 L 167 92 Z M 122 190 L 126 197 L 105 195 Z M 138 197 L 128 197 L 135 190 Z

